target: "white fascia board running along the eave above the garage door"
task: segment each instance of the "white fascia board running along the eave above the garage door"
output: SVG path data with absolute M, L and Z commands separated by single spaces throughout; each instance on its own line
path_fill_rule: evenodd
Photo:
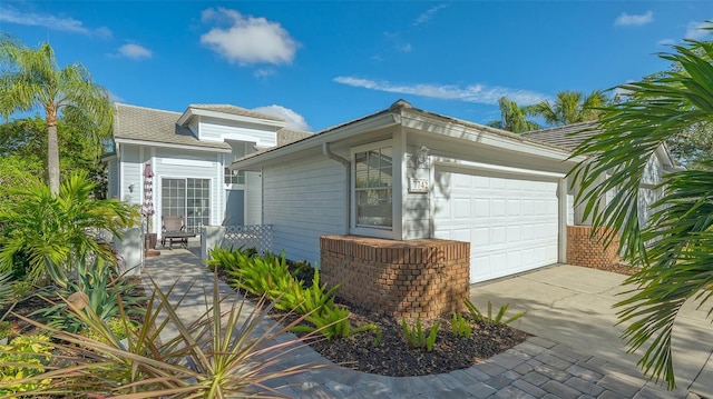
M 424 120 L 424 119 L 428 119 Z M 418 114 L 418 118 L 409 116 L 402 117 L 402 124 L 410 129 L 420 131 L 430 131 L 436 134 L 447 136 L 460 140 L 467 140 L 473 143 L 484 146 L 497 147 L 512 152 L 527 153 L 537 157 L 555 159 L 558 161 L 579 162 L 587 159 L 587 157 L 575 157 L 570 159 L 572 152 L 559 149 L 556 147 L 549 147 L 528 140 L 518 140 L 517 138 L 508 138 L 487 130 L 476 130 L 475 128 L 467 127 L 460 123 L 448 122 L 445 123 L 441 120 L 432 119 Z M 437 126 L 437 129 L 424 128 L 424 126 Z

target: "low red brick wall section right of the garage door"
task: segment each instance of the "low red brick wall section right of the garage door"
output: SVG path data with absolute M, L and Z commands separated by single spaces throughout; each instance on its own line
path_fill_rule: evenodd
M 567 226 L 567 263 L 587 267 L 618 263 L 618 236 L 608 248 L 599 241 L 603 231 L 592 237 L 592 226 Z

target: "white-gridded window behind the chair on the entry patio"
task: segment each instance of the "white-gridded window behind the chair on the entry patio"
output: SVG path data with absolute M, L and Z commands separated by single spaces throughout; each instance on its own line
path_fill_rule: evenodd
M 187 231 L 211 225 L 211 180 L 162 179 L 162 215 L 183 216 Z

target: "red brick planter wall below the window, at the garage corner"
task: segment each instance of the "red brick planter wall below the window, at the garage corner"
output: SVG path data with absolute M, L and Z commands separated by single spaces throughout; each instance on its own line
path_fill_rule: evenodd
M 469 242 L 323 236 L 320 252 L 322 281 L 380 315 L 429 319 L 463 311 L 470 297 Z

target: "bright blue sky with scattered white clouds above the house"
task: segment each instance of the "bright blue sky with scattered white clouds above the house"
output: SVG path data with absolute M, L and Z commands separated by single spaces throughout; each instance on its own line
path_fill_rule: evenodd
M 487 123 L 497 100 L 590 92 L 665 70 L 705 1 L 8 1 L 0 31 L 49 41 L 119 102 L 231 103 L 319 131 L 403 98 Z

